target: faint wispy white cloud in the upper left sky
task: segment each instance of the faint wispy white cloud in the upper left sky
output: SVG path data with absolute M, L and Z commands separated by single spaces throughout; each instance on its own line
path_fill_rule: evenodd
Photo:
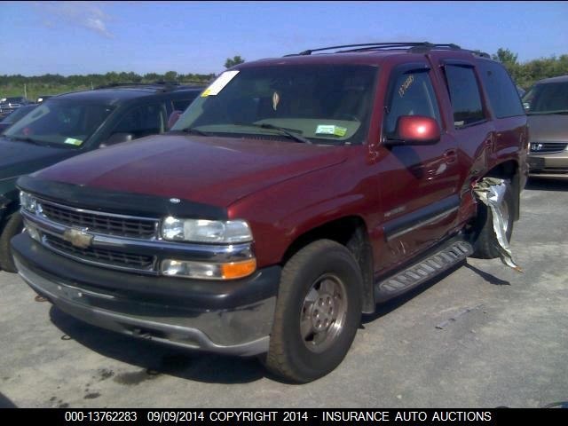
M 102 4 L 101 4 L 102 5 Z M 43 18 L 43 25 L 57 28 L 61 23 L 87 28 L 99 36 L 113 38 L 107 28 L 112 18 L 95 2 L 36 2 L 36 10 Z

